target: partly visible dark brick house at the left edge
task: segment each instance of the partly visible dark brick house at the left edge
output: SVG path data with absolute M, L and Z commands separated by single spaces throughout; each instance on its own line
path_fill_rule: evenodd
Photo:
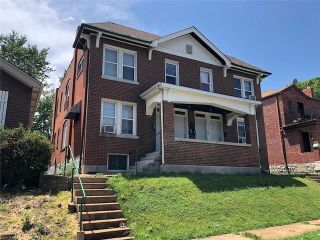
M 0 57 L 0 125 L 30 127 L 43 84 Z

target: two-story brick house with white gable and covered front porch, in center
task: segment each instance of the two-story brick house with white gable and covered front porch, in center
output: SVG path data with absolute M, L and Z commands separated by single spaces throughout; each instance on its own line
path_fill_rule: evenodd
M 195 27 L 161 37 L 82 23 L 73 47 L 55 92 L 49 172 L 66 144 L 83 173 L 125 171 L 145 142 L 138 159 L 158 153 L 160 172 L 268 171 L 259 83 L 271 73 Z

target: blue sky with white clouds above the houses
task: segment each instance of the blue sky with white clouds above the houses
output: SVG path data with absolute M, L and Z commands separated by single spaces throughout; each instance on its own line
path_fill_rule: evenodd
M 272 74 L 261 90 L 320 76 L 320 0 L 0 1 L 0 32 L 50 47 L 53 87 L 73 53 L 81 22 L 111 21 L 161 36 L 195 26 L 224 54 Z M 214 80 L 214 79 L 213 79 Z

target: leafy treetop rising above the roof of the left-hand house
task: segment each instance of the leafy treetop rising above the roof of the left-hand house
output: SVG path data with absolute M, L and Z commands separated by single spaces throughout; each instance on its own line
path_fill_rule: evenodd
M 53 71 L 49 66 L 50 62 L 46 60 L 49 48 L 38 50 L 36 45 L 26 42 L 26 35 L 18 36 L 14 30 L 8 35 L 1 34 L 0 56 L 49 86 L 46 82 L 47 73 Z

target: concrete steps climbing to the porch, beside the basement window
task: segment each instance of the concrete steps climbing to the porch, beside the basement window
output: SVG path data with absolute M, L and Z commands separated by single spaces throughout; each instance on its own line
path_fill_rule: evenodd
M 159 173 L 159 165 L 160 165 L 160 152 L 155 151 L 151 153 L 146 153 L 145 157 L 141 157 L 139 161 L 137 161 L 137 173 Z M 129 166 L 129 170 L 125 171 L 125 173 L 135 173 L 135 164 L 133 166 Z

